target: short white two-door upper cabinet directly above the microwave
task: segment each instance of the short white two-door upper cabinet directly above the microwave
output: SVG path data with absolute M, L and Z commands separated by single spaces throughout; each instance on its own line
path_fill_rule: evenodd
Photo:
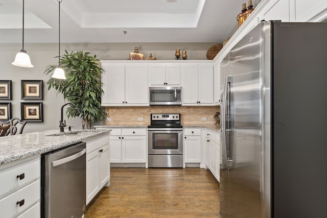
M 162 63 L 150 65 L 150 85 L 179 86 L 180 64 Z

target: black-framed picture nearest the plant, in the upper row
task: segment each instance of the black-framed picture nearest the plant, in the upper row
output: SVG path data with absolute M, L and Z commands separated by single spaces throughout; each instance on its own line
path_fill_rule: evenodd
M 43 100 L 43 80 L 21 80 L 21 99 Z

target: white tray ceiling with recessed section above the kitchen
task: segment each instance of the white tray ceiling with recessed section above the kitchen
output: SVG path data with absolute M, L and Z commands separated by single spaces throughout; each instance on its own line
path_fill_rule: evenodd
M 62 0 L 61 42 L 223 42 L 245 0 Z M 57 0 L 25 1 L 25 42 L 58 42 Z M 22 41 L 22 0 L 0 0 L 0 43 Z M 124 31 L 127 33 L 124 34 Z

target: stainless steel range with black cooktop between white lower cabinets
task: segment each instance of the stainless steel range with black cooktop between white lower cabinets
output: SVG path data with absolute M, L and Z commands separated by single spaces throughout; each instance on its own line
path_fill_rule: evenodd
M 183 167 L 179 113 L 152 113 L 148 126 L 148 167 Z

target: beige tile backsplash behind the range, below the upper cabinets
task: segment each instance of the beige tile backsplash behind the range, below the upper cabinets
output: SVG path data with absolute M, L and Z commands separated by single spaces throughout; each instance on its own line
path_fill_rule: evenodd
M 106 107 L 107 126 L 149 125 L 151 113 L 180 113 L 182 125 L 214 124 L 216 112 L 220 106 L 149 106 L 149 107 Z M 143 120 L 138 120 L 142 117 Z M 202 120 L 206 117 L 207 120 Z

